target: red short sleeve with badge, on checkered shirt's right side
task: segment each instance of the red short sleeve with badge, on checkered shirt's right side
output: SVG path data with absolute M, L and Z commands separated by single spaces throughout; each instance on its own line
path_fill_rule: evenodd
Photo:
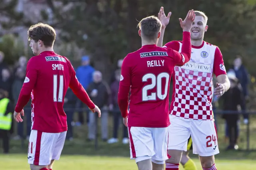
M 214 54 L 213 72 L 216 75 L 216 77 L 221 74 L 227 74 L 226 68 L 224 66 L 223 57 L 218 47 L 216 47 L 215 54 Z

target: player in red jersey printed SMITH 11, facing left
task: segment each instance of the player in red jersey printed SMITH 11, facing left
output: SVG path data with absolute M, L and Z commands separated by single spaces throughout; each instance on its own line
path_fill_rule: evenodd
M 54 28 L 47 24 L 38 23 L 28 30 L 30 47 L 36 56 L 28 61 L 14 119 L 17 122 L 23 121 L 23 108 L 31 95 L 32 130 L 28 144 L 31 170 L 52 170 L 54 160 L 60 158 L 68 129 L 63 110 L 68 87 L 92 112 L 98 112 L 100 117 L 100 109 L 78 82 L 70 61 L 54 52 L 55 37 Z

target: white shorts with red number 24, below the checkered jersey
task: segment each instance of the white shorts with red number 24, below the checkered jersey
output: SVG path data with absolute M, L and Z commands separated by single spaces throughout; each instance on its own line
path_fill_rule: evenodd
M 193 154 L 199 156 L 213 156 L 220 153 L 218 136 L 213 120 L 194 120 L 169 116 L 170 126 L 168 150 L 187 151 L 188 138 L 191 135 Z

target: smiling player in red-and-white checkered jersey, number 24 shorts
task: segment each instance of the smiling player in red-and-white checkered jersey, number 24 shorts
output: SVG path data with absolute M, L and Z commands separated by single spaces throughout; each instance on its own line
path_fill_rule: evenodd
M 196 11 L 196 18 L 190 28 L 192 53 L 190 61 L 174 67 L 173 96 L 170 105 L 170 126 L 166 170 L 178 170 L 182 151 L 187 150 L 187 140 L 191 135 L 193 153 L 199 154 L 203 170 L 217 170 L 214 155 L 219 153 L 217 132 L 212 113 L 212 76 L 218 83 L 214 94 L 222 96 L 230 87 L 222 54 L 217 46 L 204 42 L 204 32 L 208 26 L 207 16 Z M 169 22 L 161 7 L 158 18 L 162 22 L 158 46 L 162 46 L 164 30 Z M 179 19 L 182 22 L 181 19 Z M 164 45 L 180 51 L 182 41 L 172 41 Z

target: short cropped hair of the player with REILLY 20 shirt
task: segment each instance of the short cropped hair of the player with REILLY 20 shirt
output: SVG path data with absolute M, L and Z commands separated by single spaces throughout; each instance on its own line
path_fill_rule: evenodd
M 160 32 L 162 24 L 156 16 L 148 16 L 139 22 L 138 27 L 146 39 L 154 40 L 157 39 L 158 32 Z

